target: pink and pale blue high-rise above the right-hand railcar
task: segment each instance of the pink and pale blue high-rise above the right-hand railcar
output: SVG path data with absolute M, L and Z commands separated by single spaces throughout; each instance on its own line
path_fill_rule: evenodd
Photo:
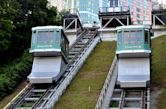
M 151 23 L 152 0 L 121 0 L 121 6 L 129 6 L 133 23 Z

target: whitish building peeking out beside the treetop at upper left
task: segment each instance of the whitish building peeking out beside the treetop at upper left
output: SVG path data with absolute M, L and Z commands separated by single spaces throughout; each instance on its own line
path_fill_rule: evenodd
M 57 7 L 59 11 L 65 8 L 65 1 L 64 0 L 48 0 L 52 6 Z

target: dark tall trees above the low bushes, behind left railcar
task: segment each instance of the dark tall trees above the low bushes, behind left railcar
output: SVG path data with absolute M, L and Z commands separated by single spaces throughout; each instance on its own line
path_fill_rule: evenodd
M 57 8 L 47 0 L 0 0 L 0 64 L 30 47 L 32 27 L 60 24 Z

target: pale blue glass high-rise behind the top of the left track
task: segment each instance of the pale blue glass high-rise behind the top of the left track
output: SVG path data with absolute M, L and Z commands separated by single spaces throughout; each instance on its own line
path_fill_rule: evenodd
M 77 9 L 85 25 L 99 24 L 99 7 L 108 7 L 109 0 L 65 0 L 65 9 Z

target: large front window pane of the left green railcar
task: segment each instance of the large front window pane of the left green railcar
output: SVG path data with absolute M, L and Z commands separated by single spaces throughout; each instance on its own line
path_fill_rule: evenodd
M 54 31 L 38 31 L 37 44 L 39 45 L 50 45 L 55 43 Z

